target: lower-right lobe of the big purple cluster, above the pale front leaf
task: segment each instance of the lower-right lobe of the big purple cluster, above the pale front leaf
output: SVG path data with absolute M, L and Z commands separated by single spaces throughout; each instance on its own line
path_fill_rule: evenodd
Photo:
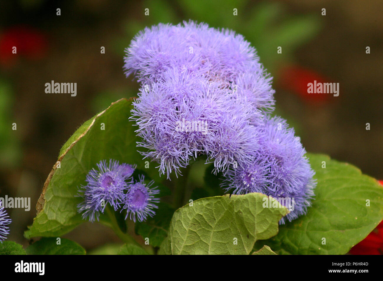
M 304 156 L 306 151 L 300 138 L 288 128 L 285 120 L 267 116 L 258 129 L 260 148 L 254 152 L 255 161 L 231 169 L 223 187 L 226 190 L 234 188 L 235 194 L 260 192 L 277 200 L 290 198 L 294 205 L 286 206 L 290 213 L 281 219 L 280 224 L 284 224 L 286 220 L 306 214 L 311 206 L 316 185 L 314 171 Z

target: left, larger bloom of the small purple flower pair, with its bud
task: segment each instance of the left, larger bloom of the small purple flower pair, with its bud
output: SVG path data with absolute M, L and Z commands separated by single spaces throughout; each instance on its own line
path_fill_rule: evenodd
M 106 203 L 109 203 L 117 210 L 124 198 L 124 190 L 127 185 L 133 182 L 131 175 L 135 166 L 119 164 L 118 161 L 102 160 L 97 163 L 98 169 L 88 172 L 85 181 L 87 185 L 80 187 L 79 196 L 83 201 L 77 205 L 82 218 L 89 221 L 98 220 L 100 212 L 105 210 Z

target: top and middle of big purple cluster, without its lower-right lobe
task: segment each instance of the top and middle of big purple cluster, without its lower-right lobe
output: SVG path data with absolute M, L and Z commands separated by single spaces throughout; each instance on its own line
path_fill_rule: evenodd
M 137 145 L 146 148 L 144 158 L 159 162 L 160 174 L 177 175 L 200 154 L 214 161 L 215 172 L 251 161 L 254 126 L 273 109 L 274 91 L 240 34 L 193 21 L 159 24 L 137 34 L 126 52 L 126 74 L 141 82 L 131 117 L 142 138 Z M 192 129 L 176 130 L 184 120 Z M 201 122 L 208 132 L 193 129 Z

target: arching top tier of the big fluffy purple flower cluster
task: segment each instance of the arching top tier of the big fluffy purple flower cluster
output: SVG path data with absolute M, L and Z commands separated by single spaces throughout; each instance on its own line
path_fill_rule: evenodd
M 168 70 L 239 88 L 257 108 L 272 109 L 272 78 L 241 34 L 194 21 L 158 24 L 139 32 L 126 49 L 126 75 L 139 82 L 167 80 Z

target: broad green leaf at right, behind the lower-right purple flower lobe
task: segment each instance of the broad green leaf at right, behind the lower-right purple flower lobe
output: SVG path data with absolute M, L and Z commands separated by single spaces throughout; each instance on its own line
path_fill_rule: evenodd
M 257 242 L 255 249 L 267 244 L 278 254 L 342 255 L 383 219 L 383 187 L 375 179 L 326 155 L 308 157 L 318 180 L 313 206 L 305 216 L 280 226 L 277 236 Z

